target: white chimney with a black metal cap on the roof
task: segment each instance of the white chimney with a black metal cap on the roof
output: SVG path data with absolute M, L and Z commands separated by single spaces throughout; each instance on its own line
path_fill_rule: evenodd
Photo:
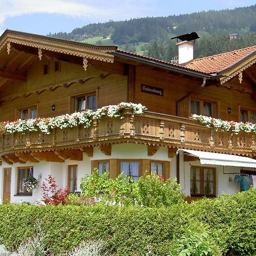
M 175 36 L 175 38 L 177 39 L 176 46 L 179 47 L 179 64 L 193 60 L 195 40 L 199 38 L 197 33 L 191 32 L 190 34 Z M 178 39 L 180 42 L 178 42 Z M 192 40 L 193 42 L 191 42 Z

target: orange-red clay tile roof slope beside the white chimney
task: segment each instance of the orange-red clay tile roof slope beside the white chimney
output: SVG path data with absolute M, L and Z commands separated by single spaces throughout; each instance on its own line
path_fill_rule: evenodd
M 174 64 L 168 61 L 138 55 L 134 52 L 123 51 L 121 49 L 117 49 L 117 52 L 126 53 L 131 56 L 142 57 L 143 59 L 153 60 L 163 64 L 170 64 L 175 67 L 189 69 L 200 73 L 213 74 L 221 71 L 222 69 L 228 68 L 230 65 L 233 65 L 237 61 L 241 60 L 243 57 L 250 55 L 250 53 L 256 52 L 256 46 L 251 46 L 243 49 L 237 49 L 231 52 L 224 52 L 213 56 L 195 59 L 189 62 L 187 65 Z

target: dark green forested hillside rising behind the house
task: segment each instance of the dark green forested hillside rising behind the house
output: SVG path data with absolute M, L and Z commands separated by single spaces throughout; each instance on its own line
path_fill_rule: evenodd
M 204 57 L 256 44 L 256 5 L 233 10 L 201 11 L 167 17 L 146 17 L 114 22 L 88 24 L 70 33 L 49 34 L 55 38 L 83 41 L 101 36 L 126 51 L 170 61 L 177 56 L 173 36 L 195 31 L 195 57 Z M 238 34 L 230 39 L 230 34 Z M 102 44 L 98 40 L 97 44 Z

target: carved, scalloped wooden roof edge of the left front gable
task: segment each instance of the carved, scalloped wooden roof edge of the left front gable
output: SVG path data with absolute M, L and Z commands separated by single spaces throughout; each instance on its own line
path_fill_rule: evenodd
M 109 53 L 117 50 L 117 46 L 93 46 L 90 44 L 51 38 L 49 36 L 6 30 L 0 36 L 0 52 L 5 47 L 7 51 L 10 51 L 12 44 L 20 44 L 38 48 L 41 51 L 59 52 L 109 63 L 113 63 L 114 61 L 113 55 L 110 55 Z

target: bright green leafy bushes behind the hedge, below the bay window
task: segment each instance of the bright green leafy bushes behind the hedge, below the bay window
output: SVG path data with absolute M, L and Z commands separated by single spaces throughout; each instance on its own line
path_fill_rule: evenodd
M 140 177 L 133 183 L 132 177 L 119 174 L 116 179 L 108 179 L 109 172 L 98 176 L 95 168 L 92 175 L 81 179 L 81 196 L 94 198 L 102 204 L 142 205 L 144 207 L 168 207 L 184 202 L 177 180 L 163 180 L 155 174 Z M 74 201 L 74 200 L 73 200 Z

